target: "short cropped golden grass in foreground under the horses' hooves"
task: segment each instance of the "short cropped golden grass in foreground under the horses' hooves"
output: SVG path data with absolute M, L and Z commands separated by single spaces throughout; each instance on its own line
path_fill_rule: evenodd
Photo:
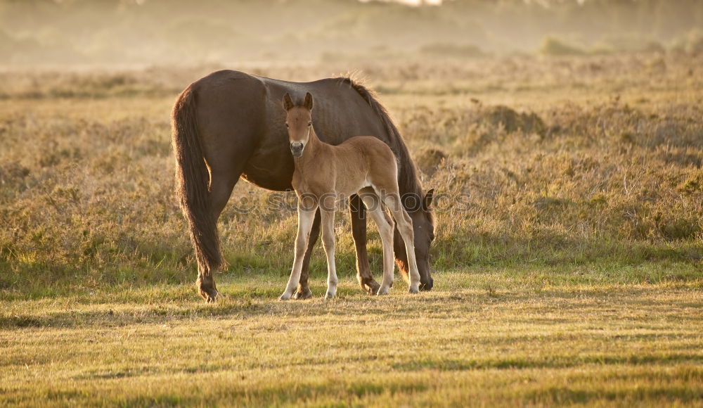
M 3 404 L 699 405 L 699 287 L 460 288 L 278 302 L 283 279 L 3 304 Z M 491 272 L 479 274 L 494 280 Z M 323 281 L 314 283 L 323 291 Z

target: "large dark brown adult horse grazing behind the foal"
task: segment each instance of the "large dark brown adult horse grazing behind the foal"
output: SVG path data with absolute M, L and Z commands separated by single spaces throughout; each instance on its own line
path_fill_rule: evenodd
M 313 120 L 318 132 L 324 135 L 324 142 L 337 145 L 355 135 L 371 134 L 393 151 L 399 164 L 398 184 L 403 204 L 413 219 L 420 289 L 429 291 L 433 286 L 428 258 L 434 239 L 432 192 L 423 193 L 408 149 L 373 93 L 347 77 L 299 83 L 222 70 L 183 90 L 172 116 L 178 193 L 198 260 L 200 295 L 207 301 L 214 301 L 217 296 L 212 273 L 223 264 L 217 219 L 239 178 L 265 189 L 292 189 L 295 167 L 280 101 L 286 93 L 302 98 L 306 92 L 316 96 Z M 356 195 L 350 198 L 349 208 L 357 278 L 361 288 L 373 294 L 379 284 L 371 275 L 366 255 L 366 209 Z M 318 212 L 295 298 L 312 295 L 308 267 L 319 231 Z M 407 279 L 404 247 L 396 229 L 396 263 Z

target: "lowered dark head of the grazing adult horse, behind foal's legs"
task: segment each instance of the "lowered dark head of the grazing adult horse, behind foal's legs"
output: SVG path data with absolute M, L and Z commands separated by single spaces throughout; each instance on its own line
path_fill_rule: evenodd
M 434 210 L 432 210 L 432 196 L 434 189 L 427 191 L 420 200 L 420 205 L 409 205 L 408 215 L 413 219 L 413 233 L 415 240 L 415 259 L 420 272 L 420 291 L 431 291 L 434 280 L 430 273 L 430 245 L 434 241 Z M 417 203 L 417 202 L 415 202 Z M 409 204 L 409 201 L 408 201 Z M 394 238 L 395 255 L 398 266 L 407 276 L 408 258 L 406 256 L 403 238 L 396 229 Z

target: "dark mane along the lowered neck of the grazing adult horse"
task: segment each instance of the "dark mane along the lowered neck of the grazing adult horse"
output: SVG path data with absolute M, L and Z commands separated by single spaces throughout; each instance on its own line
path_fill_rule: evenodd
M 361 97 L 369 104 L 374 113 L 378 115 L 383 126 L 388 134 L 389 147 L 395 153 L 398 159 L 398 186 L 403 194 L 414 194 L 415 197 L 422 200 L 424 198 L 423 187 L 418 178 L 418 171 L 415 169 L 413 159 L 408 152 L 408 146 L 405 145 L 403 136 L 401 136 L 398 128 L 394 124 L 388 110 L 376 98 L 376 93 L 372 89 L 368 89 L 362 84 L 361 79 L 354 74 L 347 74 L 340 78 L 342 82 L 347 82 L 352 88 L 361 95 Z

